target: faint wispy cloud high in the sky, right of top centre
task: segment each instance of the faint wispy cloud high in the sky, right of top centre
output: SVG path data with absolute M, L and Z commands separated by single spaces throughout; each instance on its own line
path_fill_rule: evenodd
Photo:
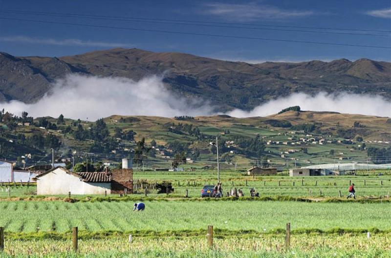
M 215 15 L 226 20 L 254 21 L 254 20 L 281 20 L 313 15 L 312 11 L 286 10 L 271 5 L 257 3 L 207 3 L 204 14 Z

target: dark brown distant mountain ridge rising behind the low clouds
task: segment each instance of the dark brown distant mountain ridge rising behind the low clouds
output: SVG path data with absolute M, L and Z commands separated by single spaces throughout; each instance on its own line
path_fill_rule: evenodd
M 391 63 L 360 59 L 300 63 L 223 61 L 182 53 L 115 48 L 82 55 L 14 57 L 0 52 L 0 101 L 32 103 L 69 73 L 134 80 L 162 74 L 170 90 L 209 100 L 217 111 L 249 110 L 291 93 L 373 94 L 391 99 Z

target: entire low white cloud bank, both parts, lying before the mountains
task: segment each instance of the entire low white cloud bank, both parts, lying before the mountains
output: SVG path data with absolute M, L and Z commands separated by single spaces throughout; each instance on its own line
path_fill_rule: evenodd
M 336 111 L 340 113 L 391 117 L 391 102 L 381 97 L 319 93 L 299 93 L 266 102 L 251 111 L 233 110 L 233 117 L 257 117 L 278 113 L 288 106 L 302 110 Z M 59 80 L 50 93 L 34 104 L 13 100 L 0 107 L 16 115 L 27 111 L 33 117 L 58 117 L 96 120 L 111 115 L 145 115 L 174 117 L 214 115 L 215 108 L 202 99 L 187 99 L 169 91 L 162 77 L 151 76 L 139 81 L 126 78 L 100 78 L 68 75 Z

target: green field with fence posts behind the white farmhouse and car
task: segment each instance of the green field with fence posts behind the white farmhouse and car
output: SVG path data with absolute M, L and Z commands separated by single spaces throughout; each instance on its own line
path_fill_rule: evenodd
M 383 173 L 385 176 L 378 176 Z M 261 196 L 292 196 L 292 197 L 339 197 L 347 195 L 349 183 L 354 183 L 356 194 L 359 198 L 386 197 L 391 192 L 391 176 L 389 171 L 358 171 L 363 176 L 333 176 L 333 177 L 295 177 L 287 176 L 245 176 L 234 170 L 221 172 L 221 181 L 224 192 L 233 188 L 242 189 L 245 196 L 249 196 L 250 188 L 254 187 Z M 134 197 L 142 197 L 145 193 L 145 184 L 150 184 L 149 197 L 165 195 L 156 194 L 151 189 L 151 184 L 169 181 L 174 187 L 174 192 L 169 197 L 184 197 L 186 190 L 191 198 L 200 196 L 204 185 L 216 184 L 216 170 L 199 170 L 196 172 L 156 172 L 134 171 Z M 8 186 L 0 186 L 0 198 L 7 198 Z M 321 194 L 322 192 L 322 194 Z M 10 197 L 27 198 L 34 196 L 36 186 L 10 186 Z M 65 196 L 63 196 L 65 197 Z M 81 197 L 82 198 L 82 197 Z

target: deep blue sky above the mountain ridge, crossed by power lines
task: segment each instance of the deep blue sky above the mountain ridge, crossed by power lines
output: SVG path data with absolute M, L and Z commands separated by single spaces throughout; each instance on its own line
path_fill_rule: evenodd
M 41 15 L 33 15 L 31 12 L 41 12 Z M 50 13 L 57 14 L 57 16 L 48 15 Z M 59 13 L 67 15 L 58 16 Z M 74 15 L 94 15 L 94 19 L 75 17 Z M 102 20 L 102 16 L 111 17 L 110 19 L 114 20 Z M 391 61 L 390 48 L 219 38 L 23 21 L 41 20 L 244 38 L 390 47 L 390 32 L 357 31 L 391 31 L 390 0 L 0 0 L 0 18 L 19 19 L 0 19 L 0 51 L 15 56 L 60 57 L 114 47 L 135 47 L 150 51 L 183 52 L 218 59 L 250 62 L 267 60 L 328 61 L 340 58 Z M 123 18 L 162 20 L 130 21 Z M 186 22 L 169 20 L 185 20 Z M 194 24 L 200 23 L 190 21 L 208 23 L 202 23 L 207 26 L 199 26 Z M 192 23 L 193 25 L 177 23 Z M 286 26 L 316 27 L 316 29 Z M 319 27 L 349 30 L 317 29 Z M 311 30 L 318 33 L 292 30 Z

